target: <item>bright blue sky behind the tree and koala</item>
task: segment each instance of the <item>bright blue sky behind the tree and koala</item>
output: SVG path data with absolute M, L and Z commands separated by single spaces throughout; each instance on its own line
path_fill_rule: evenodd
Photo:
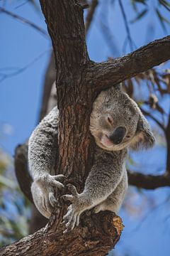
M 28 18 L 46 30 L 44 17 L 33 6 L 24 4 L 17 8 L 23 2 L 6 1 L 4 8 Z M 108 57 L 117 57 L 130 51 L 130 48 L 127 47 L 123 52 L 126 38 L 125 24 L 118 1 L 115 1 L 114 6 L 111 2 L 108 1 L 109 7 L 106 8 L 106 1 L 100 1 L 101 4 L 98 6 L 94 23 L 87 37 L 89 55 L 95 61 L 103 61 Z M 125 0 L 123 4 L 128 21 L 135 18 L 130 1 Z M 154 14 L 157 1 L 150 0 L 148 4 L 150 11 L 147 16 L 130 26 L 130 33 L 137 48 L 149 41 L 166 36 L 170 31 L 168 26 L 166 33 L 162 30 L 157 16 Z M 145 6 L 139 4 L 139 9 L 144 8 Z M 166 17 L 169 16 L 164 9 L 162 9 L 162 14 Z M 116 46 L 112 50 L 99 28 L 101 20 L 102 23 L 109 25 L 113 33 L 108 40 L 110 44 L 113 43 Z M 16 145 L 28 139 L 37 123 L 51 43 L 49 38 L 45 38 L 35 29 L 6 14 L 0 14 L 0 24 L 0 74 L 10 74 L 29 65 L 23 72 L 0 83 L 0 146 L 13 155 Z M 152 153 L 137 154 L 135 161 L 137 161 L 140 171 L 152 173 L 155 170 L 164 171 L 165 157 L 165 148 L 157 146 Z M 130 189 L 132 194 L 136 193 L 135 188 Z M 116 256 L 124 255 L 124 252 L 130 252 L 130 256 L 169 255 L 169 219 L 165 219 L 170 209 L 169 203 L 164 203 L 169 194 L 169 188 L 159 188 L 156 191 L 142 190 L 137 200 L 140 202 L 142 198 L 146 197 L 149 198 L 147 201 L 154 201 L 155 206 L 154 210 L 151 210 L 150 206 L 146 207 L 142 217 L 130 217 L 125 210 L 120 211 L 125 229 L 120 242 L 116 245 Z M 142 224 L 139 225 L 142 218 Z

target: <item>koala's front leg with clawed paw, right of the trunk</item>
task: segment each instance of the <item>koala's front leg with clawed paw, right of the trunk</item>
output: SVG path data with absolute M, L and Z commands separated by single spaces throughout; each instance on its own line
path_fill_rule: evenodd
M 79 216 L 84 210 L 97 206 L 108 198 L 115 190 L 123 176 L 123 161 L 121 157 L 114 163 L 111 154 L 99 156 L 86 179 L 84 191 L 77 193 L 74 186 L 69 185 L 72 195 L 64 195 L 63 198 L 72 203 L 64 215 L 64 223 L 67 230 L 72 230 L 75 225 L 79 225 Z

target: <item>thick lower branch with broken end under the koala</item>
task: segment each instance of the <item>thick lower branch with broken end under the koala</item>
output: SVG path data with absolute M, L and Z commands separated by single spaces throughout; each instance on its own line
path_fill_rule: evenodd
M 18 242 L 1 247 L 0 255 L 106 255 L 108 250 L 118 242 L 123 229 L 121 218 L 113 213 L 98 213 L 91 219 L 89 211 L 89 214 L 84 216 L 83 228 L 77 227 L 63 235 L 63 224 L 60 225 L 60 230 L 57 230 L 59 219 L 53 215 L 45 228 Z

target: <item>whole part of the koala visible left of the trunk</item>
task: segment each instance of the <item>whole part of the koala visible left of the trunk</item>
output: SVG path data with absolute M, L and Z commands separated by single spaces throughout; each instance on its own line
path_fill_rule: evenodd
M 55 190 L 62 189 L 62 174 L 54 176 L 55 159 L 58 149 L 58 110 L 53 110 L 42 119 L 28 142 L 28 162 L 33 174 L 31 191 L 33 201 L 42 215 L 50 218 L 57 205 Z

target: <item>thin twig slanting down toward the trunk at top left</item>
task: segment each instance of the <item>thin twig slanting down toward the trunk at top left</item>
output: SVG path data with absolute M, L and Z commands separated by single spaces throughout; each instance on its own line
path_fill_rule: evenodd
M 23 18 L 21 16 L 18 16 L 16 14 L 13 14 L 11 11 L 7 11 L 6 9 L 0 7 L 0 12 L 7 14 L 9 16 L 11 16 L 12 18 L 15 18 L 18 21 L 21 21 L 22 23 L 27 24 L 28 26 L 31 26 L 32 28 L 35 28 L 36 31 L 40 32 L 42 34 L 42 36 L 45 36 L 45 38 L 49 38 L 49 36 L 47 35 L 47 32 L 43 29 L 40 28 L 39 26 L 37 26 L 35 23 L 28 21 L 28 19 Z

